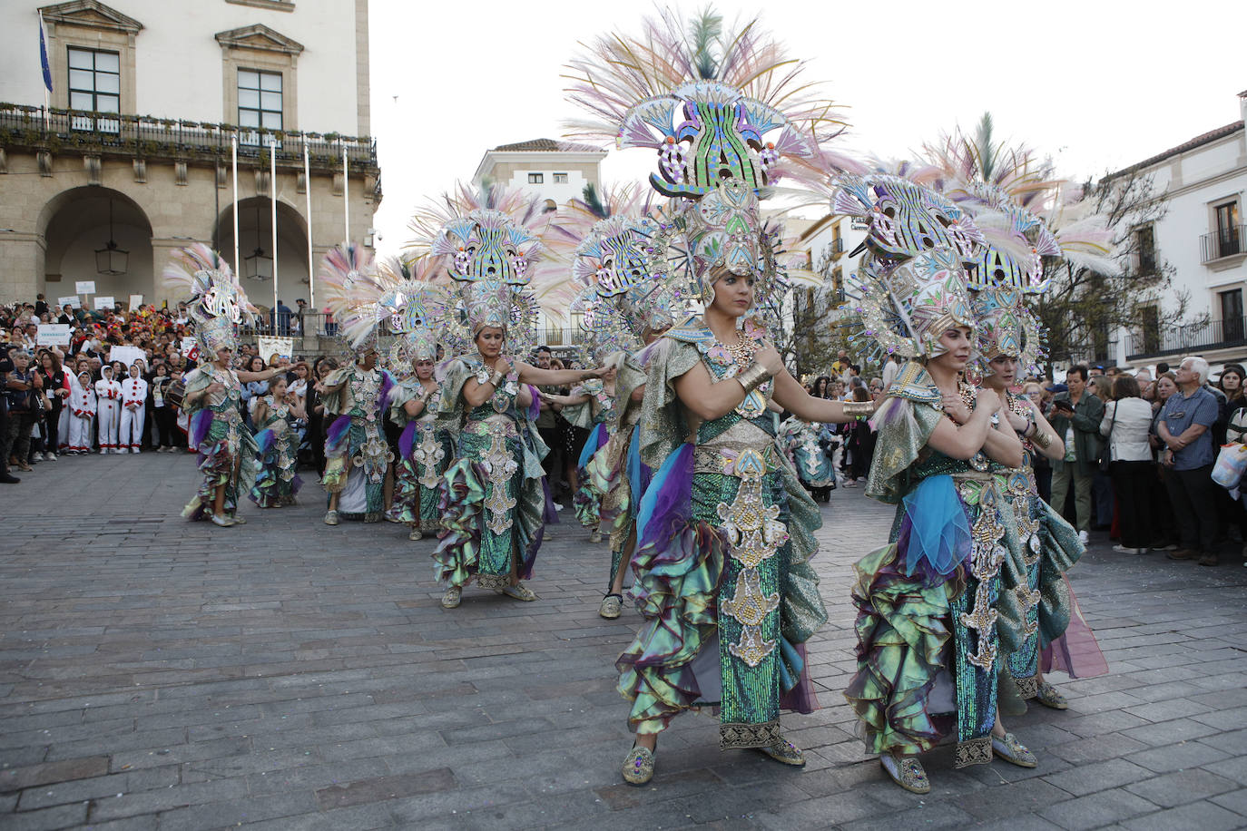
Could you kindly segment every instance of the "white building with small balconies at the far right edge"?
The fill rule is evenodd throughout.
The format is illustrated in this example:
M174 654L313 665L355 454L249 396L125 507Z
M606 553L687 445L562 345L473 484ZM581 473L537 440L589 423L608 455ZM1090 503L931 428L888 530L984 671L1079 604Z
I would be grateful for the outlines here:
M1172 287L1140 298L1137 324L1119 333L1119 364L1176 364L1187 354L1212 363L1247 358L1247 91L1238 93L1238 107L1237 121L1115 174L1151 176L1166 202L1161 219L1134 229L1135 268L1165 260L1176 269ZM1185 321L1160 325L1162 310L1177 309L1178 293L1188 298Z

